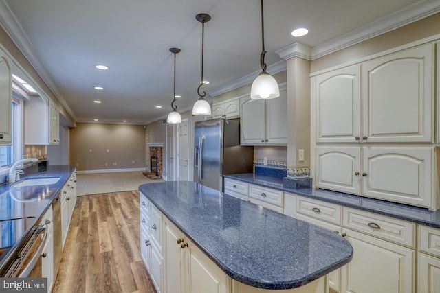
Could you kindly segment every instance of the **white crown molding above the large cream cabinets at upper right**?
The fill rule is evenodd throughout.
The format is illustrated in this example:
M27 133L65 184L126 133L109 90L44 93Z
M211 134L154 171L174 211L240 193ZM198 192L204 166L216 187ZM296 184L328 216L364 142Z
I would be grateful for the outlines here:
M342 34L328 42L316 45L311 49L311 60L329 55L341 49L361 43L375 36L391 32L399 27L414 23L440 12L440 1L417 2L402 10L388 14L382 19L373 21L347 34Z

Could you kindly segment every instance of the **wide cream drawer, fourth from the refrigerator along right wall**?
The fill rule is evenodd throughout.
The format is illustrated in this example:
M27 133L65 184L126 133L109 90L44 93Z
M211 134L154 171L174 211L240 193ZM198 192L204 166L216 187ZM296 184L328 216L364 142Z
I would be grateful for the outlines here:
M415 224L357 209L343 208L342 226L415 247Z

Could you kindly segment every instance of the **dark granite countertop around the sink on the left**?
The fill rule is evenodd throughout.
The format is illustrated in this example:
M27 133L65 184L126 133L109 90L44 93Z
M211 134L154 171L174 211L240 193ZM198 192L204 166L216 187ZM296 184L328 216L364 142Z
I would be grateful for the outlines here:
M16 239L15 245L0 255L0 270L5 266L12 251L21 245L21 240L25 238L30 228L39 222L75 169L74 165L49 165L47 172L39 172L38 164L34 164L25 167L25 174L21 175L21 180L41 177L59 177L60 180L52 185L28 187L14 187L13 184L8 183L0 185L0 220L34 217L28 230L23 232L20 239ZM1 233L8 234L8 231Z

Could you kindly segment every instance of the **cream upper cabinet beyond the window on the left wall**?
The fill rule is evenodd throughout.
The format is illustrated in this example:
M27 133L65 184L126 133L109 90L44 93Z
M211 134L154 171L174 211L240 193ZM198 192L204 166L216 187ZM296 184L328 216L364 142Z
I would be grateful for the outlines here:
M57 145L59 140L59 111L52 101L31 97L25 102L25 144Z

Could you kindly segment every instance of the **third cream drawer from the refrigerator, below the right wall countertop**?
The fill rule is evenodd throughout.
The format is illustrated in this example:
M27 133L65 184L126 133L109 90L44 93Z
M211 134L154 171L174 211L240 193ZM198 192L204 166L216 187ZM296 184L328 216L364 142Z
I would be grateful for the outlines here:
M338 204L312 200L298 196L296 199L296 213L302 213L309 217L331 222L336 225L341 224L341 207Z

